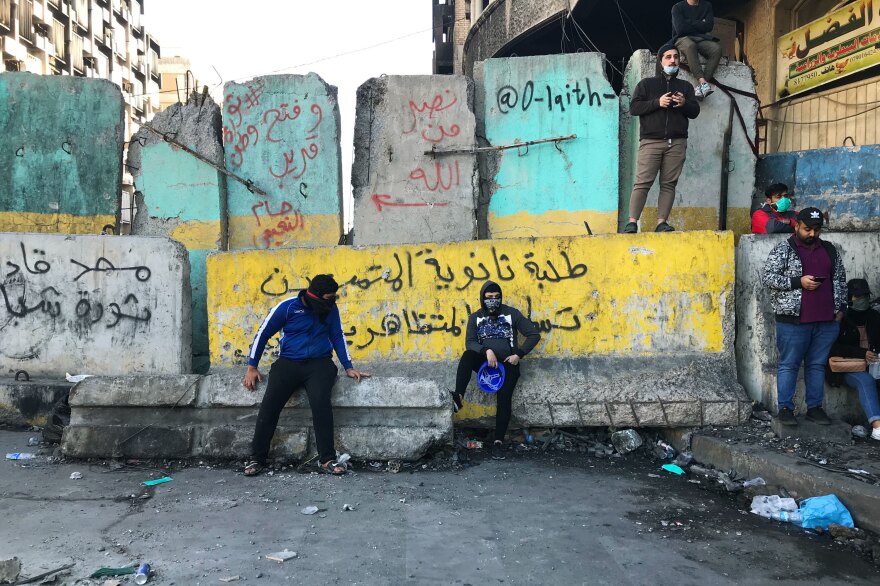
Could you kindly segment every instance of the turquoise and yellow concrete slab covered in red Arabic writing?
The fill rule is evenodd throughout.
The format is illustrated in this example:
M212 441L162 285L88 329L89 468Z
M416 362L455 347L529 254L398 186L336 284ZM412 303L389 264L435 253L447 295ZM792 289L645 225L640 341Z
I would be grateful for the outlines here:
M226 169L266 192L229 182L229 247L337 244L342 235L339 103L314 73L228 83Z

